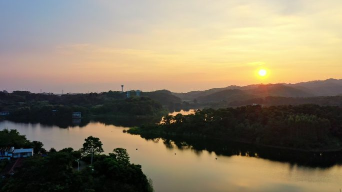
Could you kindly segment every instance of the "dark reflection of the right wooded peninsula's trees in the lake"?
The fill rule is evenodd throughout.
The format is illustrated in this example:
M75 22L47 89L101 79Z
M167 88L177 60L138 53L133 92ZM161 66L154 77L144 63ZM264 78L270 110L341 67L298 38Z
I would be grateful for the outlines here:
M178 136L155 138L155 136L151 135L143 135L141 137L154 142L159 142L161 140L168 149L192 150L196 154L199 154L202 151L208 151L210 153L214 152L217 155L228 157L255 157L305 167L328 168L337 164L342 164L342 152L340 151L314 153L203 138L194 139Z

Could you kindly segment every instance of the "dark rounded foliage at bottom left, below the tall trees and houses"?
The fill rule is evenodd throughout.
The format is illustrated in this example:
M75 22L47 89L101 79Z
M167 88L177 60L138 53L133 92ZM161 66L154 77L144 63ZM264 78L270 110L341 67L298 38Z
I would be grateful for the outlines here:
M80 172L72 169L75 157L68 152L32 157L13 176L5 179L1 192L152 192L141 167L123 164L104 155Z

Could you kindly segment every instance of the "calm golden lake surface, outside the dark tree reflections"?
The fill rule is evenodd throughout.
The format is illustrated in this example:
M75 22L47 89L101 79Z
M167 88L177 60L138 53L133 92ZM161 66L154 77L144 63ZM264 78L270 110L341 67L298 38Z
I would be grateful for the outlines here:
M43 142L47 150L79 149L90 135L100 138L105 153L125 148L130 161L142 165L153 180L156 192L339 192L342 188L338 165L307 168L255 157L219 156L191 147L179 149L172 144L166 148L162 140L147 141L122 133L127 128L97 122L61 129L3 121L3 128L17 129L29 140Z

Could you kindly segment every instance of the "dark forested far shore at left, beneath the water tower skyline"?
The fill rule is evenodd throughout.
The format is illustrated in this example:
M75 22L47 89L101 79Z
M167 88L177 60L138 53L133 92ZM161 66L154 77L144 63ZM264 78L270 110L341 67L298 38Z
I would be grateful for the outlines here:
M75 111L81 112L85 119L107 116L161 117L167 114L158 101L149 97L125 98L124 93L112 91L60 96L28 91L0 92L0 111L9 112L5 117L8 120L41 123L71 121L72 112Z

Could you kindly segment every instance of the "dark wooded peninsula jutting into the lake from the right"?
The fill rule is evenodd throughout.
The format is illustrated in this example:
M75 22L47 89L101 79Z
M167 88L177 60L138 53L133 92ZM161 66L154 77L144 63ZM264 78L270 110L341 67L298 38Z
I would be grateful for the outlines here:
M243 106L197 110L166 116L160 125L145 125L133 134L189 135L295 149L336 149L342 139L342 109L305 104Z

